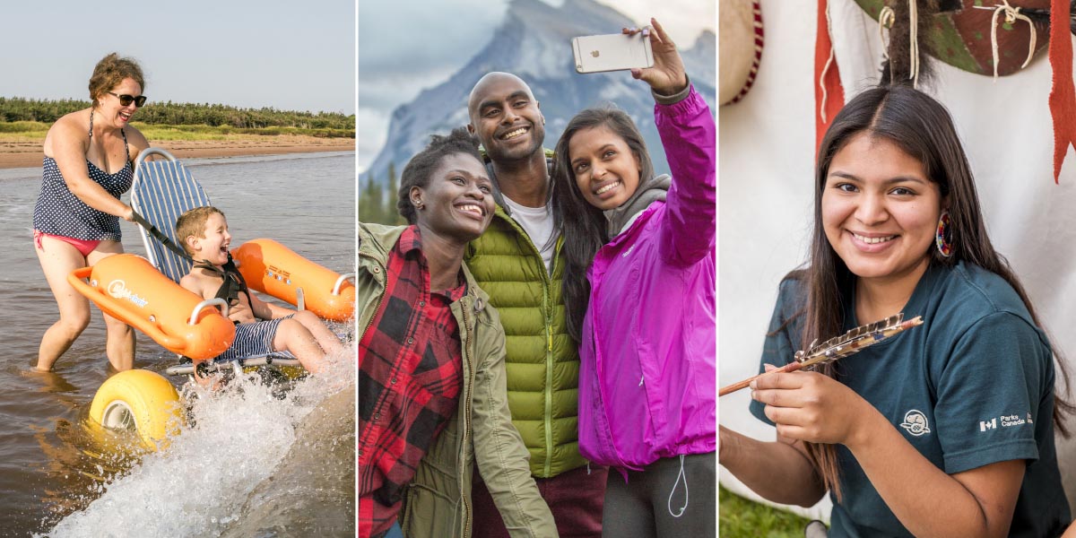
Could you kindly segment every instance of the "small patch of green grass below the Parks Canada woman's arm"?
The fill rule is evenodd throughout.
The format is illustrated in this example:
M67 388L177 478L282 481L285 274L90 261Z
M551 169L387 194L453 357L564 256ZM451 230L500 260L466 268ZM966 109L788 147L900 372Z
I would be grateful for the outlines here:
M721 538L803 538L810 520L748 500L718 485Z

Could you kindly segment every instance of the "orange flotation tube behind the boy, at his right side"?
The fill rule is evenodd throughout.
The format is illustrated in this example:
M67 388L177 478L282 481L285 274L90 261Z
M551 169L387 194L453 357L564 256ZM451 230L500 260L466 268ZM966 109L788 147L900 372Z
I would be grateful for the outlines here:
M355 284L271 239L255 239L231 251L246 285L293 306L302 288L306 309L320 317L346 322L355 315ZM354 277L354 275L352 275Z

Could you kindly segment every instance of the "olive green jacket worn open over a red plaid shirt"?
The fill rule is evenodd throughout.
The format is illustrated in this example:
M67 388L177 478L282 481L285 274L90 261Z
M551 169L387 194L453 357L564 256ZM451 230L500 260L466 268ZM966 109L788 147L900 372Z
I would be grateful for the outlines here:
M369 329L384 296L388 251L404 229L358 225L356 305L363 334ZM471 468L477 463L512 537L555 537L553 515L527 472L527 452L508 412L505 334L497 311L486 306L489 296L466 265L463 269L467 295L452 303L463 343L459 408L408 485L400 518L404 535L470 537Z

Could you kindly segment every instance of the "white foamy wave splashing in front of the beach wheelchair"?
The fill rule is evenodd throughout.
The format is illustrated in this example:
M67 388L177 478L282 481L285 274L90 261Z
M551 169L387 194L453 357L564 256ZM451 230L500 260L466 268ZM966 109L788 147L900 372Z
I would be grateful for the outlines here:
M354 344L342 355L283 398L254 376L194 390L171 447L87 492L99 497L48 536L353 536Z

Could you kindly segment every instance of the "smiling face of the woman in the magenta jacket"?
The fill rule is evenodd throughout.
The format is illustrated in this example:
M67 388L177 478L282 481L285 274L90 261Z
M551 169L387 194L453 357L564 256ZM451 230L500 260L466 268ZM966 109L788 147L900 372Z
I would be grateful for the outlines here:
M604 125L580 129L571 137L568 161L583 199L603 211L620 207L639 187L638 156Z

